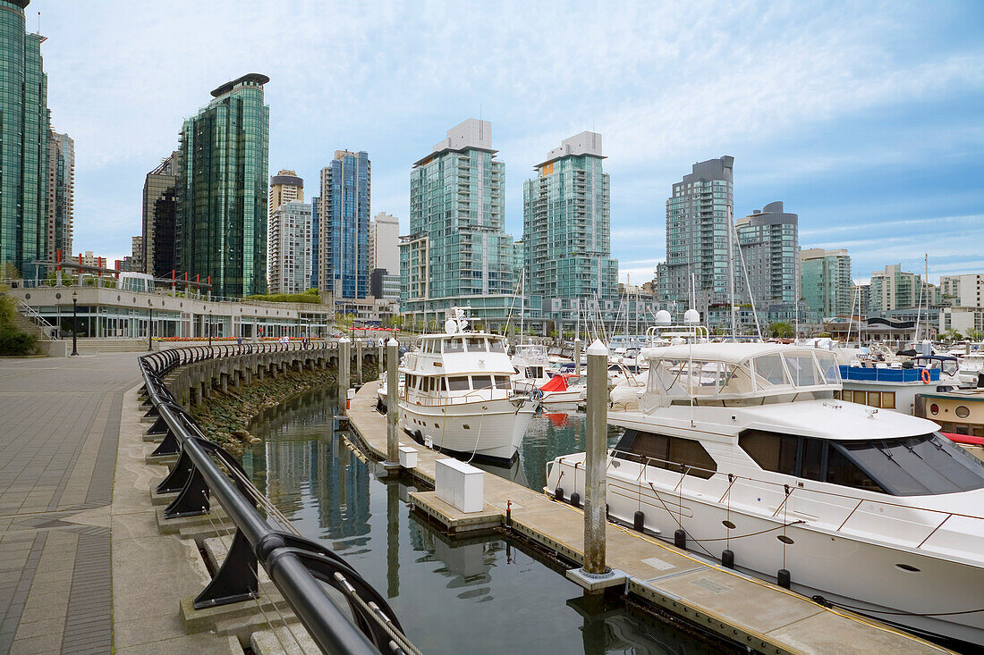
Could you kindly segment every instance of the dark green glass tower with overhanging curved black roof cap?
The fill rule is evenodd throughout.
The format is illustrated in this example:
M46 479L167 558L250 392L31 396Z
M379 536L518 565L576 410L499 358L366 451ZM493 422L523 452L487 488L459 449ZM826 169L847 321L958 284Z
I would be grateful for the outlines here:
M214 295L267 289L268 82L251 73L222 85L181 129L177 267L211 277Z

